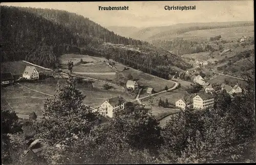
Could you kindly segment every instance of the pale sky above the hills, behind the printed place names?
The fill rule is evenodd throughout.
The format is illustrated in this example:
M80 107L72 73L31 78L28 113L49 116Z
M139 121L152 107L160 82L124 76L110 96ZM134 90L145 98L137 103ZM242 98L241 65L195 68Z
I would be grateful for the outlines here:
M88 17L103 27L144 28L189 22L254 20L253 1L30 2L1 5L66 10ZM100 11L99 6L129 6L129 10ZM196 10L165 10L165 6L196 6Z

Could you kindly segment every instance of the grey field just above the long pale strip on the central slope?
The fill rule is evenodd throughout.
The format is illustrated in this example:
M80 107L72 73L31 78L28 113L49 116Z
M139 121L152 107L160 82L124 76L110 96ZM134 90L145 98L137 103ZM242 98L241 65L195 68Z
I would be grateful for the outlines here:
M75 65L73 67L73 72L89 72L89 73L105 73L105 72L115 72L108 64L99 63L90 66Z

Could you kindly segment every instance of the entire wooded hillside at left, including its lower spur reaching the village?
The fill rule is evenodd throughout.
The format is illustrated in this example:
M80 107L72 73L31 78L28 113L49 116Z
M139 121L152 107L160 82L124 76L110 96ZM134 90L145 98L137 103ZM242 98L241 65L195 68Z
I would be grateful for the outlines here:
M168 51L116 35L67 11L1 6L1 20L2 61L27 60L54 68L62 54L87 54L112 58L162 78L175 72L172 65L191 67Z

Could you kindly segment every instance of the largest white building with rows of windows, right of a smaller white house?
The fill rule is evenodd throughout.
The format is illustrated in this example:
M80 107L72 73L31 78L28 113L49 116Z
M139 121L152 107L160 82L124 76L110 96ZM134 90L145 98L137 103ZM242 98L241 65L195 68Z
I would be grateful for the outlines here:
M193 98L194 108L204 109L212 106L214 106L214 95L210 93L197 94L197 96Z

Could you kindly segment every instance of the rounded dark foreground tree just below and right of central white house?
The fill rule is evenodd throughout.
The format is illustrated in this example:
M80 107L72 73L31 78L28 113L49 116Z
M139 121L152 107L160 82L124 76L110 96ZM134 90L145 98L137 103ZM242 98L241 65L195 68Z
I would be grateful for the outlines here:
M113 129L120 132L124 142L139 150L150 149L151 151L155 151L162 143L161 129L158 124L151 112L147 112L140 106L116 111L111 121Z

